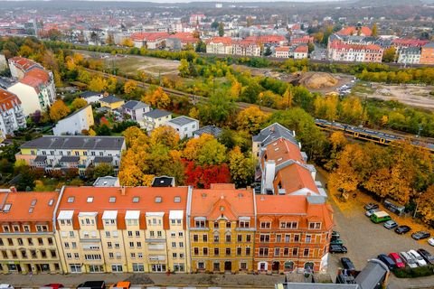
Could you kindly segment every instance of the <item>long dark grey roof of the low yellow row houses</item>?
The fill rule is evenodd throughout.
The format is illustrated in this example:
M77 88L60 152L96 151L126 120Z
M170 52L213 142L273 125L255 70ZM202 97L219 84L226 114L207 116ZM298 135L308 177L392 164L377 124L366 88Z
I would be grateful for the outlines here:
M21 148L38 149L87 149L120 150L125 143L123 136L89 136L89 135L43 135L22 144Z

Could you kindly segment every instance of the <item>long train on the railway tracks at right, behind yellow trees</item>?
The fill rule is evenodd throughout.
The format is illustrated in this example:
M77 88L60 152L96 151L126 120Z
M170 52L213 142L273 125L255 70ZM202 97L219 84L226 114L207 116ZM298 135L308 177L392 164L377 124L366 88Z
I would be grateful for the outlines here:
M316 126L326 131L342 131L344 135L351 136L356 139L361 139L368 142L373 142L382 145L393 145L396 142L404 141L407 138L402 135L392 135L384 133L382 131L365 128L362 126L350 126L347 124L337 123L334 121L328 121L325 119L316 118ZM410 140L412 145L429 150L431 154L434 154L434 144L422 140Z

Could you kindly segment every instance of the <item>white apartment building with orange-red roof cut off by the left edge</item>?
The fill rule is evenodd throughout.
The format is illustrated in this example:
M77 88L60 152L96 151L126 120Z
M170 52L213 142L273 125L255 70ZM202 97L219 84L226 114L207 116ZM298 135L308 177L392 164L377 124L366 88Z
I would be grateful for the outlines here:
M26 127L21 101L13 93L0 89L0 139L14 135L14 131Z

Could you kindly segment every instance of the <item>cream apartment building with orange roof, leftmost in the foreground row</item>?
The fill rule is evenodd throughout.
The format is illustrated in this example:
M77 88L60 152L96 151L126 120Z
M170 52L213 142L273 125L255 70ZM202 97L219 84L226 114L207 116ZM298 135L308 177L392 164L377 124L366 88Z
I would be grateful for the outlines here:
M62 273L53 216L56 191L0 191L0 272Z

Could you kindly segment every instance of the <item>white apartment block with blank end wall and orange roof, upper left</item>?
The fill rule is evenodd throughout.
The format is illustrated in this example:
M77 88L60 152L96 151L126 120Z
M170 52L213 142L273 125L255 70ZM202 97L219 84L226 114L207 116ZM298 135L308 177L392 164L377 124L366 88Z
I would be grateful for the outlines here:
M51 71L23 57L10 59L9 67L17 82L7 90L21 100L25 116L52 105L56 99L56 89Z

